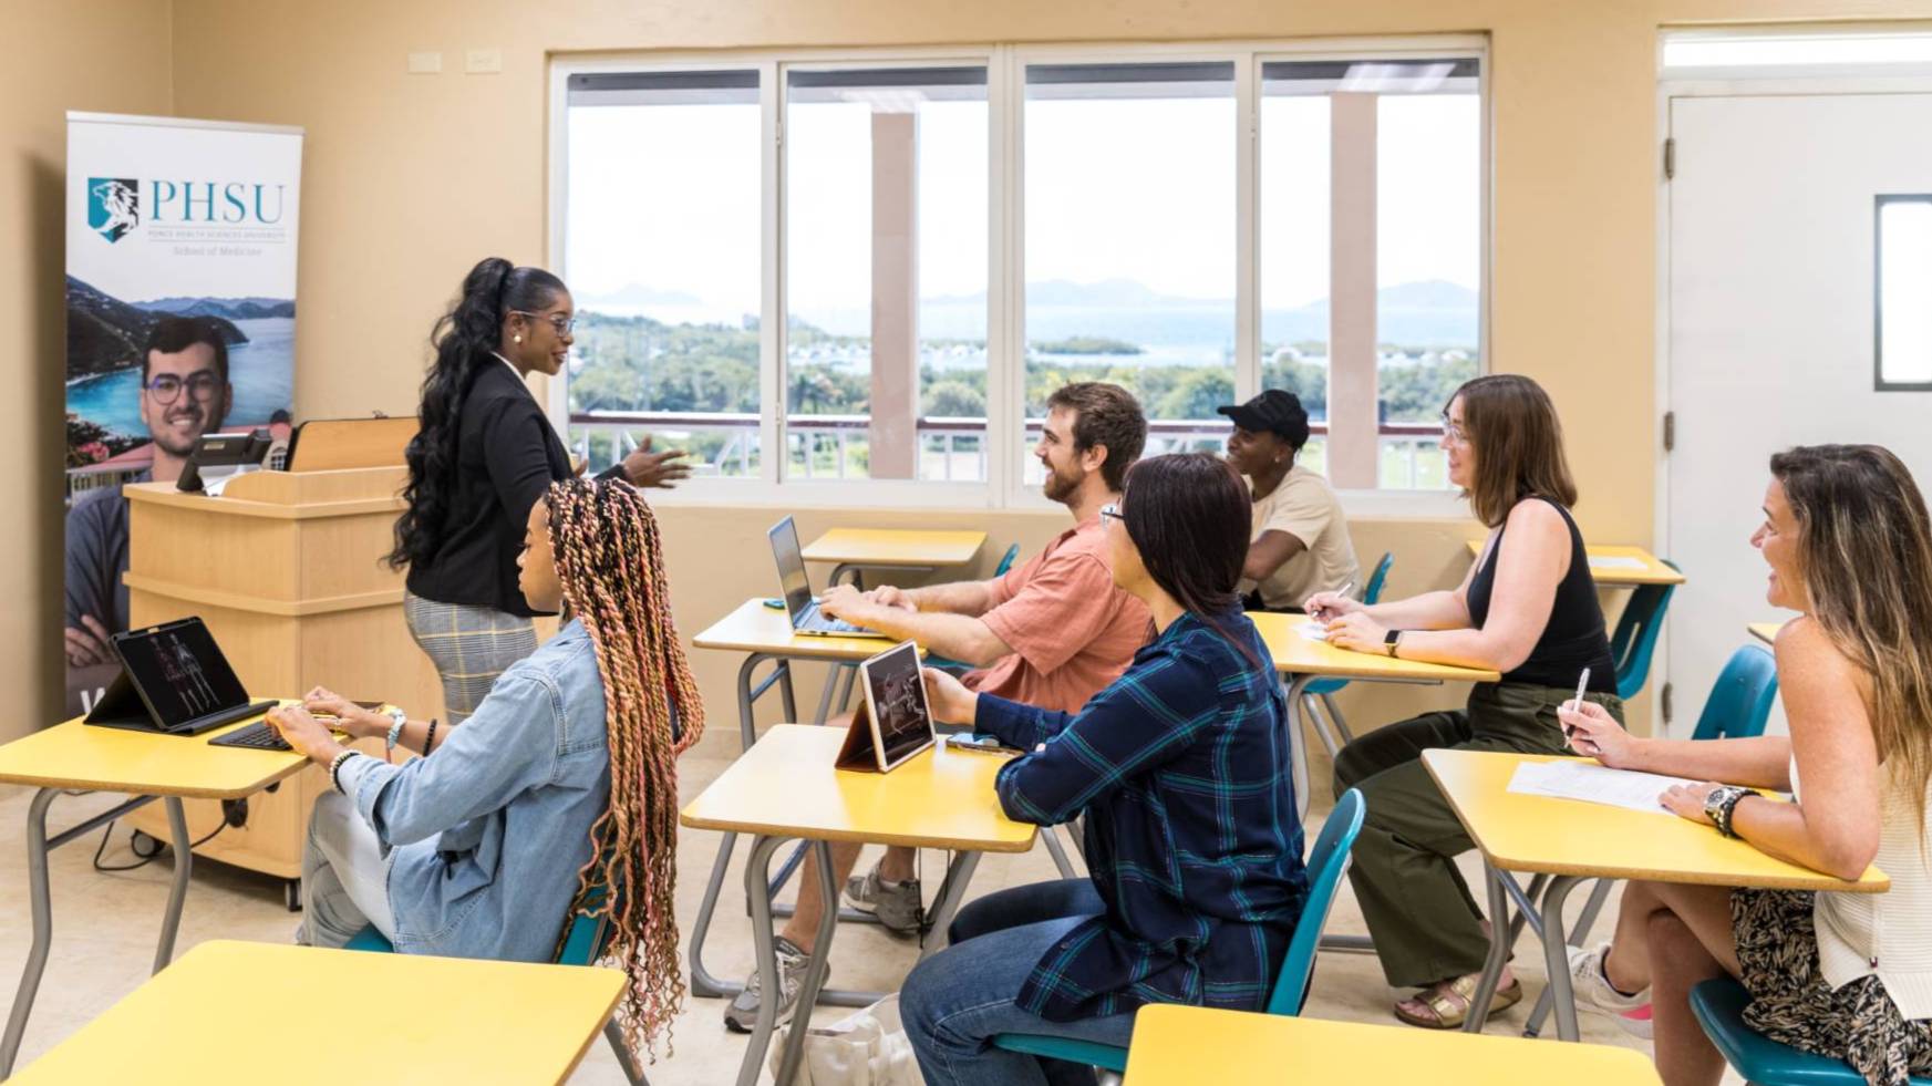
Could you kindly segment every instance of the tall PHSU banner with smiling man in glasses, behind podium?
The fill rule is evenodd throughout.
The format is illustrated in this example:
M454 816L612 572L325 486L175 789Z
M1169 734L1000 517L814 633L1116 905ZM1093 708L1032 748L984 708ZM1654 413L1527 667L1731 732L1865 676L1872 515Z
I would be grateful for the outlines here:
M122 485L174 481L207 433L286 437L301 129L68 114L68 709L128 628Z

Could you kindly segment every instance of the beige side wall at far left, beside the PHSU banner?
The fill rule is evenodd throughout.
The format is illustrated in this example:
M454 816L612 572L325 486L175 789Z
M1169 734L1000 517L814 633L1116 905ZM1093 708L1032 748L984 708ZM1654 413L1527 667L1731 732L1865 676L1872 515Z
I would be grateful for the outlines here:
M0 357L17 365L0 398L0 508L14 510L0 564L0 740L60 711L60 464L68 365L66 110L172 110L166 0L8 4L14 44L0 66Z

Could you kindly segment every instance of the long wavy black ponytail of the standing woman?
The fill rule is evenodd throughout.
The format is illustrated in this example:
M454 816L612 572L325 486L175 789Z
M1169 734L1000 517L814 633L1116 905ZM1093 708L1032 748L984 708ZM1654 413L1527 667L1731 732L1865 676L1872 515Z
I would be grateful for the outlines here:
M442 543L456 491L460 412L475 375L485 365L502 365L493 352L502 342L504 317L512 309L543 311L562 292L564 280L543 269L520 269L502 257L487 257L469 269L456 303L429 330L437 359L423 377L419 427L404 454L410 483L402 489L402 500L408 504L396 518L390 568L427 562Z

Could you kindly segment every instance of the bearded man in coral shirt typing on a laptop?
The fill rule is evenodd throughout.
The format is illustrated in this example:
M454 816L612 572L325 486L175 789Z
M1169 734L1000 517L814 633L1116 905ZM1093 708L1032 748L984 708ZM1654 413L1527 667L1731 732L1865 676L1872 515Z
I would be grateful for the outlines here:
M867 593L838 586L825 593L819 611L974 665L978 671L964 678L974 690L1076 713L1126 671L1151 626L1146 605L1115 587L1099 524L1099 508L1121 500L1121 483L1146 439L1148 419L1124 388L1097 381L1061 388L1047 398L1045 431L1034 454L1047 470L1045 495L1074 514L1074 528L1001 578L914 589L885 586ZM850 877L860 848L833 844L833 873L850 879L846 902L875 914L889 931L918 933L914 850L887 848L869 873ZM790 1018L811 960L825 908L817 885L815 860L808 856L798 910L777 939L781 1022ZM759 999L753 970L724 1009L724 1024L752 1032Z

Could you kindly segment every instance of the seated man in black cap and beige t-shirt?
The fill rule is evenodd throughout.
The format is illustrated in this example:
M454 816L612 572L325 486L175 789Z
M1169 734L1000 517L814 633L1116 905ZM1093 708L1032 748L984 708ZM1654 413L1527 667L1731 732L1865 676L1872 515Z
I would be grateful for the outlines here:
M1235 421L1227 460L1254 495L1248 562L1240 570L1248 609L1300 611L1318 591L1354 586L1360 568L1341 500L1327 479L1294 462L1308 443L1300 398L1269 388L1217 410Z

